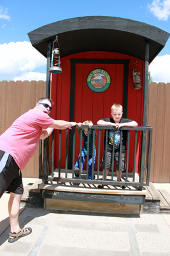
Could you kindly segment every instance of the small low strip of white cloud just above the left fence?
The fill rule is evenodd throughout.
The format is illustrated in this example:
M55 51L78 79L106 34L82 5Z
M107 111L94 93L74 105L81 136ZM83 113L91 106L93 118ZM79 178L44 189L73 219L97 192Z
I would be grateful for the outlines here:
M26 72L22 76L14 77L13 81L46 81L46 74L38 72Z

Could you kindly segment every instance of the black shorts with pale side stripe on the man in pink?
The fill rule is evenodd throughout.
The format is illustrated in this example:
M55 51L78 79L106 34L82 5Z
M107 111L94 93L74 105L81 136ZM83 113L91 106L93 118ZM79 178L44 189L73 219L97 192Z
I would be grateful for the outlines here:
M0 198L5 191L22 195L22 174L13 157L0 150Z

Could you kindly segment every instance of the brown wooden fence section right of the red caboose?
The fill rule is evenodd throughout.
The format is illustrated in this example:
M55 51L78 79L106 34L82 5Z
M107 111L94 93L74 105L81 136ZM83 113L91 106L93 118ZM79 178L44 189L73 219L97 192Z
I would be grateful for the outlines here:
M147 124L153 127L150 181L170 182L170 83L148 86Z

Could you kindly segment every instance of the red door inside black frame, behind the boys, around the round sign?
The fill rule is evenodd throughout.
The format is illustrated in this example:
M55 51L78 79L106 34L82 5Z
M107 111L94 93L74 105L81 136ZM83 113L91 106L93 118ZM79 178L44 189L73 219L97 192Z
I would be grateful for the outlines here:
M92 70L103 69L110 75L111 83L104 92L93 92L88 84L87 77ZM114 103L123 105L124 92L124 65L123 64L79 64L75 65L74 87L74 121L84 122L92 120L96 125L101 118L111 117L111 106ZM101 132L101 157L104 151L104 131ZM76 131L75 159L80 152L80 135ZM98 148L98 134L96 150ZM98 152L98 151L97 151ZM97 155L96 155L97 156ZM97 161L96 161L97 163ZM84 169L86 166L84 166ZM97 168L97 166L96 166Z

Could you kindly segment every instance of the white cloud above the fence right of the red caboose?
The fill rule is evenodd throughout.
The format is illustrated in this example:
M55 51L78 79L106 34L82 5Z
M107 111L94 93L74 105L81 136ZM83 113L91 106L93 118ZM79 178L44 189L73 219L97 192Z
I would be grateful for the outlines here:
M155 83L170 83L170 55L157 56L149 65L152 80Z

